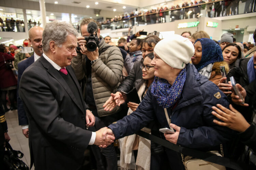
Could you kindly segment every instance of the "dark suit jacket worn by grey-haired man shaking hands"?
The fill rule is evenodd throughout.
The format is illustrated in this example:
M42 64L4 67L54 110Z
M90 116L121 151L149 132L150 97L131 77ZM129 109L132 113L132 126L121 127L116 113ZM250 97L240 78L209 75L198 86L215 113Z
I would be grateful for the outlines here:
M86 129L81 87L71 66L68 74L79 89L74 96L66 81L43 56L20 79L19 96L29 123L31 166L35 169L77 169L91 138ZM78 104L79 100L83 105Z

